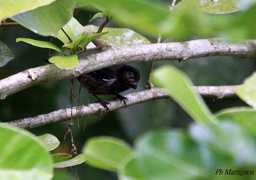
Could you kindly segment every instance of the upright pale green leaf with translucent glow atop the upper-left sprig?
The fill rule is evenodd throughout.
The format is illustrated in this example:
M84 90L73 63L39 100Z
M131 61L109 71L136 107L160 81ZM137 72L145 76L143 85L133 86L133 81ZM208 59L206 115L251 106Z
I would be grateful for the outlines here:
M67 24L65 24L62 27L62 29L66 32L68 37L73 42L76 41L84 32L84 27L73 17L70 19L70 21Z

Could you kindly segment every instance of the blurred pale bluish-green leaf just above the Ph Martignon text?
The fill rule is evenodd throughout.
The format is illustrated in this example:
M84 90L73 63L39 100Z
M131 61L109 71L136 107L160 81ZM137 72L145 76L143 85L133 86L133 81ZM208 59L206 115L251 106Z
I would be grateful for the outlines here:
M220 121L217 125L208 126L193 124L190 127L190 134L211 151L232 157L236 166L256 164L254 137L234 122Z

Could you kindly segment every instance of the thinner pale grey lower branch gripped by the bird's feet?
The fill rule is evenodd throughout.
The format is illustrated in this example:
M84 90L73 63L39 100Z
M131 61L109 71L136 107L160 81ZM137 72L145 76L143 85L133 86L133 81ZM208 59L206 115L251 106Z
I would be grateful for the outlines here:
M236 97L235 90L238 86L196 86L195 90L198 91L205 98L233 98ZM133 93L126 95L129 99L126 102L127 106L132 106L135 104L140 104L147 101L152 101L156 99L167 99L169 98L168 93L163 88L152 88L138 93ZM108 105L110 111L124 108L125 105L120 102L120 100L114 98L110 101L111 105ZM77 110L79 109L79 110ZM68 121L70 119L80 118L83 116L100 116L106 114L108 111L104 109L100 103L94 103L90 105L82 105L80 107L73 107L72 109L61 109L53 111L48 114L43 114L35 117L29 117L25 119L20 119L16 121L10 121L4 124L9 124L17 126L20 128L35 128L39 126L44 126L46 124L53 124L63 121Z

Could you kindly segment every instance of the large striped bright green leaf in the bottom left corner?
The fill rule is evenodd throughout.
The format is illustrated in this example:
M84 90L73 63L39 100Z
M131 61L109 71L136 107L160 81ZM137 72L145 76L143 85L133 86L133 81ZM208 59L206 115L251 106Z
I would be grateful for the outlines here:
M1 179L52 179L52 159L35 136L23 129L0 125Z

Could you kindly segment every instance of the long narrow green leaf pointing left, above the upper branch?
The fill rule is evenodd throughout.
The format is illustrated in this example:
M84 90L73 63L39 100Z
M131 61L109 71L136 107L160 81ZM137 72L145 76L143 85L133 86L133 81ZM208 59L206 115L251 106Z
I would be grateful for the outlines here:
M61 49L58 48L55 44L52 44L51 42L37 41L37 40L34 40L34 39L28 39L28 38L17 38L16 39L16 42L20 42L20 41L26 42L28 44L31 44L33 46L37 46L37 47L40 47L40 48L50 48L50 49L53 49L53 50L58 51L61 54L63 54Z

